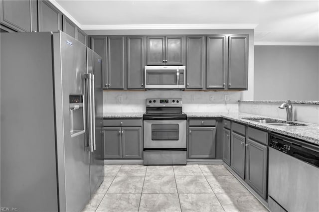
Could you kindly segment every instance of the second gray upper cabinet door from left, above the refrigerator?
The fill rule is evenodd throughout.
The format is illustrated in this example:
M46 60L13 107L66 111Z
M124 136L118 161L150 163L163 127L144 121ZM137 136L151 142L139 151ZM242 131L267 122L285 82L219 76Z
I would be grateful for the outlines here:
M56 32L62 30L62 12L47 0L38 1L39 31Z

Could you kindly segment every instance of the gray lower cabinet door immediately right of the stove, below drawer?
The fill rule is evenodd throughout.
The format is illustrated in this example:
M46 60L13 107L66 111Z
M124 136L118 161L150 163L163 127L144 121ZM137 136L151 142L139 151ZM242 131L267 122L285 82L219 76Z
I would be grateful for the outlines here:
M188 158L215 158L216 127L189 127Z

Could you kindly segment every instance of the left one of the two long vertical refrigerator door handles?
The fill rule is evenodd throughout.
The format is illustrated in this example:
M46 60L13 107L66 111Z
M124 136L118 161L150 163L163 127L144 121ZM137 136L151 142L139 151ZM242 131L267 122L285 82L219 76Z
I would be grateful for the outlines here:
M88 105L88 147L90 148L89 151L93 152L93 124L92 124L92 74L83 74L83 78L86 79L87 82L87 105Z

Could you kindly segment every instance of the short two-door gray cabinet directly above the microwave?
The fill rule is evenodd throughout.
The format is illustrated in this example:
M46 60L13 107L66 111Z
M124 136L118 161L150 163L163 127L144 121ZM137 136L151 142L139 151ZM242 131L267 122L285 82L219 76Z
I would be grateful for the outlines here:
M183 65L183 36L148 36L148 65Z

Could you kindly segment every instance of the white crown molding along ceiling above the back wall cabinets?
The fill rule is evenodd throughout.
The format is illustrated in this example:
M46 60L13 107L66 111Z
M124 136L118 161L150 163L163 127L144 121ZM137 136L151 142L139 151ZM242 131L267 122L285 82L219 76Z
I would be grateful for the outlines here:
M258 24L118 24L81 25L83 30L127 29L255 29Z

